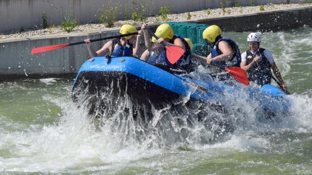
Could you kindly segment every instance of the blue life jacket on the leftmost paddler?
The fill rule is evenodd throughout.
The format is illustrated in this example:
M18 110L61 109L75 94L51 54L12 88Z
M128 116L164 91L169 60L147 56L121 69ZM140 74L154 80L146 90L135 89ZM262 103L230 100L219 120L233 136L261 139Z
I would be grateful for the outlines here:
M133 56L133 45L127 41L127 44L122 46L119 40L113 40L110 57L119 56Z

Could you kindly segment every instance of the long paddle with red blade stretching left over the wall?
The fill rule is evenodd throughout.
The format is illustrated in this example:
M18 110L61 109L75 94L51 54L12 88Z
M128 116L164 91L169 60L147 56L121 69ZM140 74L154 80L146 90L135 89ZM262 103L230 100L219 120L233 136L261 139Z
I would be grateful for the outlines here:
M91 42L101 41L101 40L105 40L105 39L119 38L119 37L136 35L136 34L138 34L138 32L123 34L123 35L116 35L116 36L109 36L109 37L99 38L99 39L90 39L90 41ZM42 47L35 47L31 50L31 54L42 53L42 52L55 50L55 49L62 48L62 47L68 47L71 45L77 45L77 44L83 44L83 43L85 43L85 41L74 42L74 43L70 43L70 44L48 45L48 46L42 46Z

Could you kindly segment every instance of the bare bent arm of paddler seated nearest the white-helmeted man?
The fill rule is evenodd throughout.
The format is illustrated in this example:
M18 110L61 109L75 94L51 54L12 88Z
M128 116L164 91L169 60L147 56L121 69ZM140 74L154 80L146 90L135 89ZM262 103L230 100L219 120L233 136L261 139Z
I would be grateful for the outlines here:
M216 61L229 61L233 57L234 51L232 50L231 46L225 42L221 41L219 42L219 49L222 52L222 54L214 57L211 59L211 53L207 56L207 63L211 64L211 62L216 62Z

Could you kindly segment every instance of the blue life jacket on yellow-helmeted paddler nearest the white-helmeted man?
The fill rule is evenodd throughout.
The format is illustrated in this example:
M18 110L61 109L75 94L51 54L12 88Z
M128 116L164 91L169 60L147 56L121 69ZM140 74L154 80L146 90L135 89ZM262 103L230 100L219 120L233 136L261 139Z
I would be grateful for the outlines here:
M214 57L222 54L222 52L219 49L219 42L220 41L225 41L227 42L233 49L233 57L229 61L218 61L218 62L213 62L214 64L221 66L221 67L240 67L240 64L242 62L242 57L241 57L241 52L239 46L236 44L235 41L231 40L230 38L220 38L215 45L212 48L211 51L211 58L213 59Z

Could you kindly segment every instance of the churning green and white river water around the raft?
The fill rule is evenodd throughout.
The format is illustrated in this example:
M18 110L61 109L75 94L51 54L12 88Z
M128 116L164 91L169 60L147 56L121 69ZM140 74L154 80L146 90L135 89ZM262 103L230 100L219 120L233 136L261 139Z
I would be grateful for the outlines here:
M247 35L224 33L241 50ZM207 141L212 133L173 120L189 116L168 108L153 110L147 124L125 115L127 102L115 118L94 119L71 101L73 79L0 82L0 173L312 174L311 38L307 26L262 33L292 93L288 115L257 120L256 104L227 98L245 114L211 111L232 115L235 130Z

